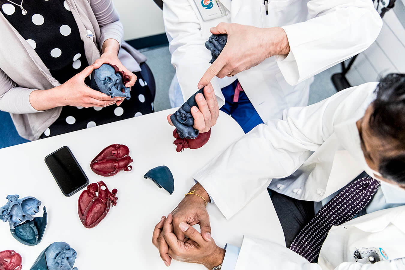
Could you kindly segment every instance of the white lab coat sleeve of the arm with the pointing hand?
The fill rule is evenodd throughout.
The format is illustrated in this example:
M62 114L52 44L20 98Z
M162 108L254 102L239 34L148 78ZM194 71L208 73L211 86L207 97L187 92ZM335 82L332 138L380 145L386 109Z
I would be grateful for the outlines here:
M282 27L290 53L276 60L290 85L364 51L382 28L371 0L310 0L307 8L311 19Z

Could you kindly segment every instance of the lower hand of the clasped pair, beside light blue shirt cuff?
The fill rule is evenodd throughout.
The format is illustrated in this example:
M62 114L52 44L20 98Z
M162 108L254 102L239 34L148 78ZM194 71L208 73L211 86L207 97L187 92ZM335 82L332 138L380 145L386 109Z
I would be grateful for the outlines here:
M162 217L162 220L156 225L153 235L158 235L153 238L153 244L159 247L160 243L165 243L165 250L168 256L177 261L184 261L196 264L203 264L209 270L222 264L225 257L225 250L218 247L214 240L207 241L203 239L201 234L192 226L182 222L179 224L179 229L185 234L184 240L177 239L173 233L173 216L168 215L167 219ZM156 239L156 240L155 240ZM166 266L170 266L170 261Z

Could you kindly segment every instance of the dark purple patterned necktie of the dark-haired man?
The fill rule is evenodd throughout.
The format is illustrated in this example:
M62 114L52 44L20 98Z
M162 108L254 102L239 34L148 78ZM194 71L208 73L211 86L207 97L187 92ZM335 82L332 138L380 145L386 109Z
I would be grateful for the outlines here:
M301 230L290 249L313 262L319 255L330 228L350 221L373 198L380 183L370 176L349 183Z

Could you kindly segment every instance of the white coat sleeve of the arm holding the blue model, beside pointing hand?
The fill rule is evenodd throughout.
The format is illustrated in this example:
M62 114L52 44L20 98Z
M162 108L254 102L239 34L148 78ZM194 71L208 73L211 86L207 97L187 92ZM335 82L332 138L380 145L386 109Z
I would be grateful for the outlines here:
M172 64L176 69L184 100L188 100L197 90L198 82L211 66L211 52L205 47L208 37L201 35L200 21L188 0L165 0L163 19L166 33L172 39L169 50ZM197 11L198 12L198 11ZM218 104L225 104L216 77L211 80Z

